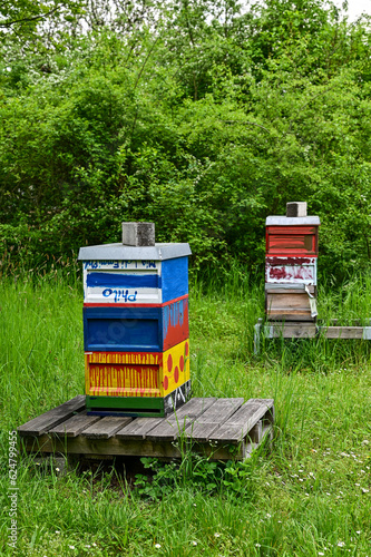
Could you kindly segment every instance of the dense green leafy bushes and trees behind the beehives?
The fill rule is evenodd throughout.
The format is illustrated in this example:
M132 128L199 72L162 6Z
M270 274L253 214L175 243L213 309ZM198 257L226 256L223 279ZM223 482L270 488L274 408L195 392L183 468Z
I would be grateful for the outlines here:
M48 71L25 55L21 76L0 71L4 245L41 264L150 219L158 240L191 242L194 264L254 268L265 217L306 199L322 268L369 265L367 25L320 0L296 16L285 0L245 14L224 0L144 2L144 22L120 6L121 31L114 18L50 49Z

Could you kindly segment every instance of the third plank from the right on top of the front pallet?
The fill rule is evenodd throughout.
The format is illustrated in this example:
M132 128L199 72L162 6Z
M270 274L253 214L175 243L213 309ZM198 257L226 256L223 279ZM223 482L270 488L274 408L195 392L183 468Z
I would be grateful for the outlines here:
M204 413L214 402L215 398L195 398L184 404L177 412L159 423L155 429L146 434L146 439L153 441L174 441L182 434L202 413Z

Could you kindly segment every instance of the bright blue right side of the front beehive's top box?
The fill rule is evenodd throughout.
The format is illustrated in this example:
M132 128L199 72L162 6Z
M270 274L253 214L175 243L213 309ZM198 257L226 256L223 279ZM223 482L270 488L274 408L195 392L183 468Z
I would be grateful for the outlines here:
M188 294L188 257L162 263L163 303Z

